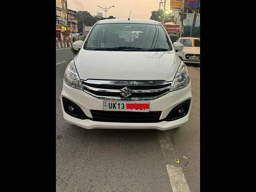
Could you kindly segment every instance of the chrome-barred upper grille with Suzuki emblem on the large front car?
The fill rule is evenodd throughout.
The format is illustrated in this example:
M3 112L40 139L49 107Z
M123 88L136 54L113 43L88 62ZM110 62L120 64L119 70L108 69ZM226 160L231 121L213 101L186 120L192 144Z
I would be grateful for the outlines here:
M154 100L170 90L171 82L81 80L86 93L102 100Z

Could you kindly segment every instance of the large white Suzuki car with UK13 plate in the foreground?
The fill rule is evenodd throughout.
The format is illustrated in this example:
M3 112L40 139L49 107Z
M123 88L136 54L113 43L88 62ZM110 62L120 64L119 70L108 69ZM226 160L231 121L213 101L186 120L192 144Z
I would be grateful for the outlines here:
M160 22L100 20L74 48L60 95L70 124L168 130L189 120L190 73L175 51L183 46Z

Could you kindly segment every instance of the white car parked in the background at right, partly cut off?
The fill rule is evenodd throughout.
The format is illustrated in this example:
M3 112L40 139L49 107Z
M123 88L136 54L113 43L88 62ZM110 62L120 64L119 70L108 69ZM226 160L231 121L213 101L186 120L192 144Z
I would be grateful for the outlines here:
M182 37L177 42L184 45L183 50L177 52L184 63L200 64L200 38Z

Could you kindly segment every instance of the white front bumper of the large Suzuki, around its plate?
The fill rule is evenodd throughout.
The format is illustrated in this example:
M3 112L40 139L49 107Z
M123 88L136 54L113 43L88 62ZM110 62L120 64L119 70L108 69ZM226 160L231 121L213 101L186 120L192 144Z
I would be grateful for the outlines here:
M192 105L192 93L191 83L181 90L170 92L155 100L150 100L150 111L162 111L160 120L166 118L169 112L178 104L185 100L191 99L190 108L186 116L173 120L170 122L162 121L157 123L120 123L120 122L97 122L93 120L82 120L67 114L63 108L62 97L66 97L72 102L76 103L84 112L86 116L92 118L90 110L103 110L103 100L95 98L82 90L74 89L68 86L63 81L62 92L60 95L60 101L62 105L62 112L64 119L70 124L86 128L103 128L103 129L157 129L157 130L168 130L182 126L189 120L189 114Z

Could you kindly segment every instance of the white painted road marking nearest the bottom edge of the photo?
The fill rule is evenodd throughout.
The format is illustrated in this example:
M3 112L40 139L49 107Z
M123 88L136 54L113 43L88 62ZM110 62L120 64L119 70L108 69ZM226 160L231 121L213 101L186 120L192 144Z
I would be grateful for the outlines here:
M172 192L190 192L181 167L166 165L167 172L172 185Z

